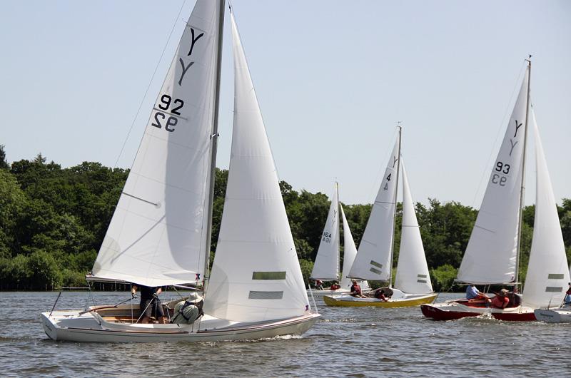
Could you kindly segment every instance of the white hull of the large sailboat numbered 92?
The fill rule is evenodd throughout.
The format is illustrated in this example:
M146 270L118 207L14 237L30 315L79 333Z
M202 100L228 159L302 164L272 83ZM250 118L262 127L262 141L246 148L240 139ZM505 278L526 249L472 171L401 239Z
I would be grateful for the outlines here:
M303 334L320 315L308 314L270 322L230 322L204 315L192 325L108 322L96 312L80 310L42 312L41 321L50 339L75 342L217 342L263 339Z

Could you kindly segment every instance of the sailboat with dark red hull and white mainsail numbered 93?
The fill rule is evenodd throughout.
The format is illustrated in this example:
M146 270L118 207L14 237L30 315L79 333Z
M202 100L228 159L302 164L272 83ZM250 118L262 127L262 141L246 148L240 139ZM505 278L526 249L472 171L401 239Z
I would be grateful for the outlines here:
M492 167L482 205L458 270L460 282L515 286L519 281L530 70L531 62L528 61L510 123ZM535 118L532 118L532 124L535 130L537 161L536 222L538 216L548 222L551 228L550 237L555 237L557 230L561 234L557 209L552 198L551 183ZM548 196L551 197L546 200ZM553 218L554 214L557 219ZM562 247L562 236L559 236L561 245L554 250L551 241L545 239L545 235L539 230L541 227L538 227L537 235L534 230L533 245L536 247L532 245L530 252L527 271L529 281L526 280L523 297L512 293L510 302L504 309L490 309L486 300L453 300L423 305L423 314L435 320L454 320L489 312L500 320L535 320L532 309L547 306L548 302L557 297L562 299L562 282L568 282L566 277L569 277L569 272L564 272L567 270L567 260L565 248ZM561 265L564 259L565 265Z

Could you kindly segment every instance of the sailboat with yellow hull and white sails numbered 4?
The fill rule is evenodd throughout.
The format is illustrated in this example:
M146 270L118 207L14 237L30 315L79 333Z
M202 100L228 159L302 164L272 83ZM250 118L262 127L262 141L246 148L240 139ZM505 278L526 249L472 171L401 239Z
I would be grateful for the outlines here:
M360 307L410 307L433 302L433 293L428 265L420 237L420 228L416 219L408 178L400 162L399 138L390 156L383 182L373 204L370 217L363 233L363 240L349 277L362 280L388 281L388 290L393 292L390 300L383 301L374 297L358 298L351 295L325 296L326 305ZM395 228L396 195L399 168L403 167L403 228L400 239L400 252L397 276L393 287L393 237Z

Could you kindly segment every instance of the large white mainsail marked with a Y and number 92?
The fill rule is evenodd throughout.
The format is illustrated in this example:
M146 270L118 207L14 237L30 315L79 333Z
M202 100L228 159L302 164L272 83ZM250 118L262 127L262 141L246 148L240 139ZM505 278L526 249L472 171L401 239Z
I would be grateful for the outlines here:
M151 111L93 274L195 282L206 250L218 1L198 0Z

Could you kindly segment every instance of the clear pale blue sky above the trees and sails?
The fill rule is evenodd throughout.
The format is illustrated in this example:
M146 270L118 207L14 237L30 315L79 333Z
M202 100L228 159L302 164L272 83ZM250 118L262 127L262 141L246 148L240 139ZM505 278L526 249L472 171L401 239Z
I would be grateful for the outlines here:
M3 1L0 144L69 167L128 168L194 1ZM415 200L480 207L533 54L532 100L555 197L571 198L571 1L233 1L278 173L370 203L403 122ZM226 17L226 22L229 19ZM228 24L227 24L228 26ZM225 36L229 37L228 27ZM225 40L218 166L230 155ZM532 144L530 145L532 151ZM535 202L529 155L526 203Z

